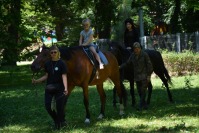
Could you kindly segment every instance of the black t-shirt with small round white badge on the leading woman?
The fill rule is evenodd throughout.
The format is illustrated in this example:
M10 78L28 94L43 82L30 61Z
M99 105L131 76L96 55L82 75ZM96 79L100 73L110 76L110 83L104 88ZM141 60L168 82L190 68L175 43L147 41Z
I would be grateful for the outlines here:
M66 74L67 68L62 60L48 61L44 69L48 73L47 84L59 83L63 85L62 74Z

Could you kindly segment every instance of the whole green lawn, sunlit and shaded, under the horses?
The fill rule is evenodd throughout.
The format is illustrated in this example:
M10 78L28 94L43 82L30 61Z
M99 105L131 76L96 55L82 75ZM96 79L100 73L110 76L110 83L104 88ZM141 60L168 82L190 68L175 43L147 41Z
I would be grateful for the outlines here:
M29 66L0 69L0 132L55 132L50 124L52 120L44 108L44 84L31 84ZM89 87L91 124L85 125L85 109L82 89L76 87L68 99L66 118L68 126L56 132L73 133L148 133L148 132L199 132L199 75L190 78L190 87L185 85L185 77L173 77L171 92L175 103L168 102L166 90L160 79L153 78L154 85L151 104L146 111L137 111L128 105L125 115L119 116L119 110L112 107L112 88L104 83L107 95L106 116L97 117L100 102L95 86ZM129 92L129 84L125 83ZM136 90L136 100L138 94ZM137 106L137 105L136 105ZM118 106L119 107L119 106Z

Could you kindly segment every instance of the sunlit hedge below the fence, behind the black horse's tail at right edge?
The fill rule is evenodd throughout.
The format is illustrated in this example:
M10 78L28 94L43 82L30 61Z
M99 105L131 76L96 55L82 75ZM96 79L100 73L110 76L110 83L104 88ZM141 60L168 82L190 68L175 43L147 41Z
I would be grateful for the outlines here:
M182 53L162 51L166 68L171 75L183 76L199 72L199 54L191 51Z

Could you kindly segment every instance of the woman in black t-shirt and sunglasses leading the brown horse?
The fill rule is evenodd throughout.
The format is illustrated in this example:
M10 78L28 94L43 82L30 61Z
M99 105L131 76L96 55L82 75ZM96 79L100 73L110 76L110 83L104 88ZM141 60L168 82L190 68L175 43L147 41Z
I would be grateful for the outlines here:
M53 92L45 90L45 107L55 123L55 128L60 129L60 127L65 125L64 106L67 100L66 95L68 94L67 68L65 63L59 59L60 53L56 46L50 48L50 55L51 60L46 62L44 66L46 74L37 80L32 79L32 83L47 80L46 85L57 84L59 86L59 89ZM56 101L56 109L54 110L51 108L53 98Z

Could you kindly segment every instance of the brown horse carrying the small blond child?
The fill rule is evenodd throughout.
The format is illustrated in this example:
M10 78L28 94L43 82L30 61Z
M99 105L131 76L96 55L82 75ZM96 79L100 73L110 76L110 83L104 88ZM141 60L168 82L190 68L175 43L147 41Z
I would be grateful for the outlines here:
M90 123L90 111L89 111L89 99L88 99L88 86L96 85L97 91L100 95L101 110L98 118L104 117L106 94L103 89L103 82L108 78L111 79L116 87L117 94L120 102L120 115L123 112L123 94L120 88L120 75L118 62L115 56L111 52L104 52L108 60L108 64L104 66L104 69L98 69L98 75L90 81L92 71L94 69L91 61L88 59L83 47L67 47L59 48L61 53L61 59L66 63L67 66L67 77L68 77L68 96L75 86L80 86L83 89L84 94L84 106L86 109L85 123ZM38 54L37 58L33 61L31 69L33 72L38 72L44 67L46 61L50 60L49 48L43 46L42 51ZM99 77L97 77L99 76ZM89 82L90 81L90 82Z

